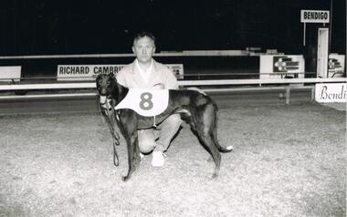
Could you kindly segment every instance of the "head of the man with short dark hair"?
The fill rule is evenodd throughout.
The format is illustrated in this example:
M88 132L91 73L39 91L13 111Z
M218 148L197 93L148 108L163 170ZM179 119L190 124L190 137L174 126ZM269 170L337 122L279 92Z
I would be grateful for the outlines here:
M148 63L155 52L155 45L151 38L144 36L136 41L132 46L132 52L141 63Z

